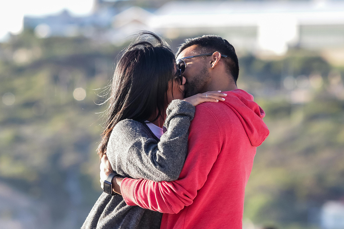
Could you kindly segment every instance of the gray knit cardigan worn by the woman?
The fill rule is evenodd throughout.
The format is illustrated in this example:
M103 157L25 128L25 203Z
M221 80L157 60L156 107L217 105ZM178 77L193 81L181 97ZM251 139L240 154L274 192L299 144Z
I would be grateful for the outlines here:
M112 130L106 154L122 177L173 181L178 179L187 153L187 138L195 107L173 100L167 108L166 132L160 141L152 131L131 119ZM122 196L103 193L88 214L82 229L159 229L162 213L128 206Z

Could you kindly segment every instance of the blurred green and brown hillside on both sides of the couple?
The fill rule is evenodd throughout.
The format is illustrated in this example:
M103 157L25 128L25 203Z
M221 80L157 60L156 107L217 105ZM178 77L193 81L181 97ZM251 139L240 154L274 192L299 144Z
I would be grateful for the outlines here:
M124 46L29 30L0 44L1 225L81 227L102 192L96 148L106 105L97 94ZM300 49L243 55L239 64L238 87L255 96L270 129L247 185L245 222L319 228L323 204L344 197L344 69Z

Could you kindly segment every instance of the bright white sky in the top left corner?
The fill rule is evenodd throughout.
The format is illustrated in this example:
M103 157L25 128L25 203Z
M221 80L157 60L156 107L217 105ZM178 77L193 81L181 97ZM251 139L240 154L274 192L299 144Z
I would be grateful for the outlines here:
M44 16L67 9L72 15L91 12L94 0L0 0L0 42L6 40L8 32L22 31L24 15Z

